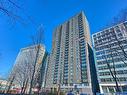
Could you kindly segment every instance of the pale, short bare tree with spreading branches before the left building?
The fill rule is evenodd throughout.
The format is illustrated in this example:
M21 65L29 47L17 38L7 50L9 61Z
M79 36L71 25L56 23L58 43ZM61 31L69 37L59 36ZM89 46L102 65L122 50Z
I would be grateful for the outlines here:
M31 52L32 51L22 53L19 57L17 57L16 64L14 65L13 70L10 74L10 77L15 75L15 79L13 82L21 88L21 95L23 95L26 89L28 89L29 80L31 79L31 73L33 71L32 59L34 57L32 56Z

